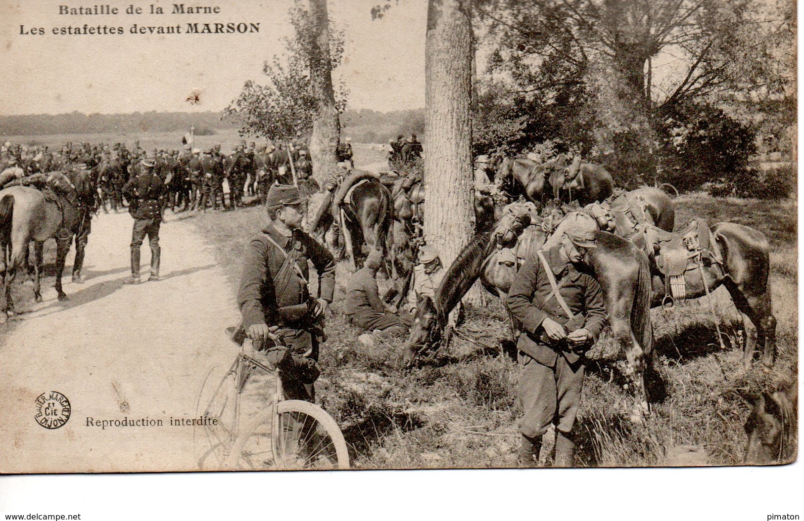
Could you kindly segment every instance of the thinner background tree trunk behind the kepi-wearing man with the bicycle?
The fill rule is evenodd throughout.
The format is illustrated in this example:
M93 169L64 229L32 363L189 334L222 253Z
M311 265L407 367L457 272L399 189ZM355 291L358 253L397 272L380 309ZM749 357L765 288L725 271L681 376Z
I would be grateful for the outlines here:
M338 165L336 149L340 140L341 125L335 94L332 88L332 61L330 59L330 26L326 14L326 0L310 0L310 26L314 31L310 49L310 83L318 100L310 136L310 159L313 177L323 186L334 176Z

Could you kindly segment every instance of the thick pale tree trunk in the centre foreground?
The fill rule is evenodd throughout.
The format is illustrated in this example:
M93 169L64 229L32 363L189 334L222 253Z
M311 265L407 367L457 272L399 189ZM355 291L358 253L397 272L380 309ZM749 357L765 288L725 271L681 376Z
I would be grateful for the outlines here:
M430 0L425 47L425 240L445 267L474 235L468 0Z

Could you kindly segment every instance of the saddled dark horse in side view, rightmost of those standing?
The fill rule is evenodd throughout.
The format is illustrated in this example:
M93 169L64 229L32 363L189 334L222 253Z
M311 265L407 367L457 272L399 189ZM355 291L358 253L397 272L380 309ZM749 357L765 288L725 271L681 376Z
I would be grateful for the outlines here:
M604 230L608 223L613 232L645 250L652 273L651 306L667 305L672 299L699 298L725 286L745 328L745 367L751 365L757 343L761 346L762 364L772 367L776 319L770 301L770 246L765 234L733 222L708 227L703 219L671 233L671 219L658 212L662 207L672 207L667 194L654 188L637 189L626 195L630 194L635 194L633 201L642 201L642 210L633 213L644 212L646 222L629 219L630 212L616 214L613 207L608 210L593 204L584 211L596 218ZM632 208L638 204L635 202Z

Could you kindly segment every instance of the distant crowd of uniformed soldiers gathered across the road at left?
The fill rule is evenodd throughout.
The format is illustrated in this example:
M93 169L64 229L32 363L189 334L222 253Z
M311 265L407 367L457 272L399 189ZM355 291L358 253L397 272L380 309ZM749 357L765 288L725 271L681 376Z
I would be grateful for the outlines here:
M348 144L351 152L351 144ZM47 146L11 144L6 141L0 153L0 188L7 182L35 173L55 170L90 169L98 174L101 208L105 212L125 207L123 187L142 169L143 161L154 162L154 172L166 185L166 207L172 211L207 208L234 210L243 206L244 196L259 195L265 201L274 182L293 184L295 176L305 193L318 189L312 177L313 165L306 144L246 144L242 140L231 153L221 152L219 144L182 149L142 149L135 141L132 149L125 143L67 143L58 150ZM228 197L224 190L228 185ZM127 200L126 200L127 201Z

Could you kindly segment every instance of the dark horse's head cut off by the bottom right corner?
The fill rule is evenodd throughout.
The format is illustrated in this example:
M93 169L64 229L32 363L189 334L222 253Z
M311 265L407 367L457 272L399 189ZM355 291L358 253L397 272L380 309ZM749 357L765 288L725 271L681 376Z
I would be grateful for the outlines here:
M773 465L795 461L797 432L798 386L762 393L745 421L745 433L749 437L745 463Z

